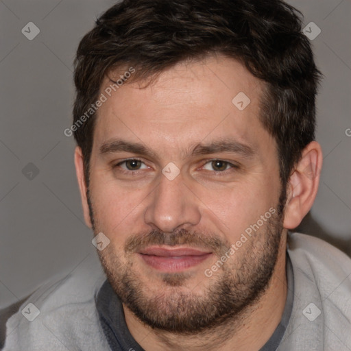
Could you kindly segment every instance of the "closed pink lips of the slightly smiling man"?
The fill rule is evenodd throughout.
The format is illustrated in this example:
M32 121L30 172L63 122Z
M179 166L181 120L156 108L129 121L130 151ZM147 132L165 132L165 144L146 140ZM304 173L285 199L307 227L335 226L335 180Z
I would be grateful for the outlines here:
M138 252L144 263L158 271L167 273L184 271L195 267L212 256L212 254L212 252L189 247L166 248L159 246L147 247Z

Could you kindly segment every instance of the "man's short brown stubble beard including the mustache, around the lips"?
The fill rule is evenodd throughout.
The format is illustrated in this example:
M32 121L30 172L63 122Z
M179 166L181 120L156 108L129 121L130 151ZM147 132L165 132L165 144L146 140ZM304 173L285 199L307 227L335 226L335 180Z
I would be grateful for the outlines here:
M228 243L224 243L216 235L205 236L187 230L165 234L153 230L128 239L123 252L130 258L126 263L121 261L118 253L113 252L113 245L98 251L101 265L121 302L148 326L180 335L196 335L220 328L228 322L236 322L244 311L258 302L269 285L278 260L282 237L281 201L282 198L278 213L267 219L265 225L254 232L234 253L235 260L230 259L223 263L216 275L210 278L204 275L206 288L202 289L201 294L184 289L184 285L191 278L189 272L160 274L164 289L150 293L152 282L150 287L145 286L134 269L131 253L147 245L189 244L193 247L205 246L220 259L221 254L228 252L229 247ZM92 216L90 199L88 202ZM96 218L93 222L97 223ZM99 226L96 227L93 230L97 234L100 230ZM199 274L204 272L200 271ZM155 284L160 285L160 282Z

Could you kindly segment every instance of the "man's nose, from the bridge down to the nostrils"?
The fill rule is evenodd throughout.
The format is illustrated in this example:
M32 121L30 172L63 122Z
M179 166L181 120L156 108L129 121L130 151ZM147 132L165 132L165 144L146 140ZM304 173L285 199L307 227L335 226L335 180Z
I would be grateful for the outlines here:
M162 232L196 226L201 219L199 200L186 186L181 174L173 180L160 175L160 182L149 195L145 223Z

